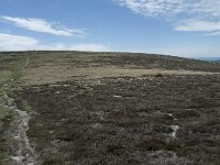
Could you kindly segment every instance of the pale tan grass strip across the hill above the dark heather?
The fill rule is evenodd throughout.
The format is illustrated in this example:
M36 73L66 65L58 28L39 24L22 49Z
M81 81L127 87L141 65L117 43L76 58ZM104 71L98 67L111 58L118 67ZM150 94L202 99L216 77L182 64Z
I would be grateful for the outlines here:
M105 77L144 77L154 75L210 75L217 73L168 69L144 69L134 66L107 67L69 67L69 66L41 66L28 68L22 77L22 85L43 85L76 79L100 79Z

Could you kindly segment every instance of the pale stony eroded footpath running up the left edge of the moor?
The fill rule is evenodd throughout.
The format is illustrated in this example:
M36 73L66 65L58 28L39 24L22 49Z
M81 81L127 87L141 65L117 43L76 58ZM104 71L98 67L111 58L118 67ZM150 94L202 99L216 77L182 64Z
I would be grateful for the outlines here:
M26 58L24 67L28 67L30 63L30 57ZM21 72L21 70L16 70ZM1 102L3 107L8 110L16 112L16 120L13 121L11 125L11 161L12 165L38 165L37 154L34 148L32 148L26 132L29 130L29 121L31 119L30 114L26 111L18 109L14 99L9 97L8 92L11 90L11 87L16 82L16 80L10 78L7 80L1 89Z

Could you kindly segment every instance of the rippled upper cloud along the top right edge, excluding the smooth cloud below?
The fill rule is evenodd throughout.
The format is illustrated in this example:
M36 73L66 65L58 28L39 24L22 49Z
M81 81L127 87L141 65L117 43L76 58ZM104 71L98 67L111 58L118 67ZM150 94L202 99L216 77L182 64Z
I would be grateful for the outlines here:
M144 15L220 16L217 0L114 0ZM196 15L195 15L196 14Z

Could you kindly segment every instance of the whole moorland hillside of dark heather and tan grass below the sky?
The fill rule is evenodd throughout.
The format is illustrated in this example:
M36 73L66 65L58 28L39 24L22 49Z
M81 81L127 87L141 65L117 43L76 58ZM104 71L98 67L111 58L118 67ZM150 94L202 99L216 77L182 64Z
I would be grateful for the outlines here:
M0 164L219 164L220 64L0 53Z

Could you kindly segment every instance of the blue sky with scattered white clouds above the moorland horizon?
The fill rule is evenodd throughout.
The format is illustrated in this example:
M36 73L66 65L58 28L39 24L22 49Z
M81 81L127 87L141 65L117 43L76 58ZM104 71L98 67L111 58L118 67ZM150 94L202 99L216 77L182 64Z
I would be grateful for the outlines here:
M0 51L220 57L218 0L0 0Z

